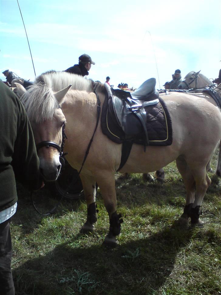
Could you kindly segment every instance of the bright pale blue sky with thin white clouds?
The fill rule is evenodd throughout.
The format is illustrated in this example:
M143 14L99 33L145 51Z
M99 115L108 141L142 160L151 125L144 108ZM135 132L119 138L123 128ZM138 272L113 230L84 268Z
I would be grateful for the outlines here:
M221 0L18 0L36 76L63 71L89 54L88 78L137 88L156 78L156 88L199 71L221 68ZM0 0L0 78L9 69L33 81L28 41L17 0Z

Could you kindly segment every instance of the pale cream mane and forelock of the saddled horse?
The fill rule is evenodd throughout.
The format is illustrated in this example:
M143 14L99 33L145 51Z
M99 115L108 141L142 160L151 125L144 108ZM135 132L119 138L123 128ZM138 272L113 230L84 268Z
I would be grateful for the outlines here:
M34 85L21 97L29 119L40 123L52 118L54 110L58 107L53 92L66 88L70 84L73 90L93 92L96 87L97 92L105 92L104 84L91 79L67 72L45 72L35 79Z

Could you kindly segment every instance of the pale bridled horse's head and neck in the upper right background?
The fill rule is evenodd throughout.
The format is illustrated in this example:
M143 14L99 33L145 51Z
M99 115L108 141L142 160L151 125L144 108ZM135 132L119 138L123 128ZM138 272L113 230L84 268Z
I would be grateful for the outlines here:
M178 89L198 89L206 86L213 85L213 82L206 76L199 72L191 71L185 75L184 80L178 85ZM200 93L202 90L192 91Z

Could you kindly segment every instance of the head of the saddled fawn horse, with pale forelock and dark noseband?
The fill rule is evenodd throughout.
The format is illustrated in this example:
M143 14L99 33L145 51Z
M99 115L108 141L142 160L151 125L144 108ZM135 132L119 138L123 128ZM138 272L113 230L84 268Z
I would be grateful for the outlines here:
M56 180L66 121L60 105L71 85L56 93L45 85L34 85L28 91L22 85L16 86L32 126L42 176L46 181Z

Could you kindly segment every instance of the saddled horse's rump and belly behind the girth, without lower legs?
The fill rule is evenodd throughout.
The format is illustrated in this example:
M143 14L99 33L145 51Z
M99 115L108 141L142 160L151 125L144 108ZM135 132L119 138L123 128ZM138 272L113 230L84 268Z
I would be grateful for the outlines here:
M134 144L121 172L152 172L180 155L185 156L189 165L198 163L206 167L208 164L221 136L219 110L205 99L183 93L165 96L164 100L172 120L172 144L166 147L148 146L146 152L142 145Z

